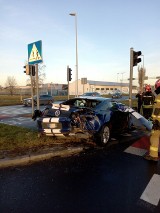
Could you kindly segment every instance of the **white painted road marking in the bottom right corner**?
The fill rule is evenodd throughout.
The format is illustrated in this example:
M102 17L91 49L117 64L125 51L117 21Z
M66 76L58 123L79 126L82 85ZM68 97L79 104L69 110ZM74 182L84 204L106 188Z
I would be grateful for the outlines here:
M155 206L158 205L160 199L160 175L154 174L152 176L140 199Z

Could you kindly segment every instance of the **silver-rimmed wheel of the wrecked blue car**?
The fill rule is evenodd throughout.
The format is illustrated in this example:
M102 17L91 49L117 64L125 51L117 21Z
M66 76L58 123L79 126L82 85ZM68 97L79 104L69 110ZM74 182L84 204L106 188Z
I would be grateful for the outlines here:
M100 132L99 143L101 146L106 146L110 140L110 127L109 125L104 125Z

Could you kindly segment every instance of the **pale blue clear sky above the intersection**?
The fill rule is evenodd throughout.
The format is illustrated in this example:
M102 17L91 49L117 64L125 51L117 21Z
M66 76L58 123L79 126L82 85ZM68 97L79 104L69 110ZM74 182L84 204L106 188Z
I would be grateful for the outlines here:
M44 83L66 84L67 66L75 80L76 19L70 13L77 15L79 79L128 82L133 48L144 55L139 66L144 63L145 82L153 84L160 76L159 8L159 0L0 0L0 85L12 76L26 85L28 44L39 40Z

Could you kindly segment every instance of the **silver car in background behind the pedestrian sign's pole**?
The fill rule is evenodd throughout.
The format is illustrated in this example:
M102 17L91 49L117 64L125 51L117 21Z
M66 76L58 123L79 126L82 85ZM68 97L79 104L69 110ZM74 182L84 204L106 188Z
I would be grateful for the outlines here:
M53 102L53 97L51 95L40 95L39 96L39 104L40 105L47 105ZM33 97L34 105L37 105L37 96ZM23 99L24 106L31 106L32 105L32 98L25 98Z

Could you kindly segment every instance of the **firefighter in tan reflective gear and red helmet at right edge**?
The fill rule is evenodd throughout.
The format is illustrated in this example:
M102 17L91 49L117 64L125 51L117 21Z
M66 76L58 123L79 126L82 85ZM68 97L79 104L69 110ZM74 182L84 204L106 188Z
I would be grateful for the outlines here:
M155 102L153 106L152 120L153 127L150 136L150 148L149 153L144 156L147 160L158 161L158 149L159 149L159 139L160 139L160 79L155 83Z

